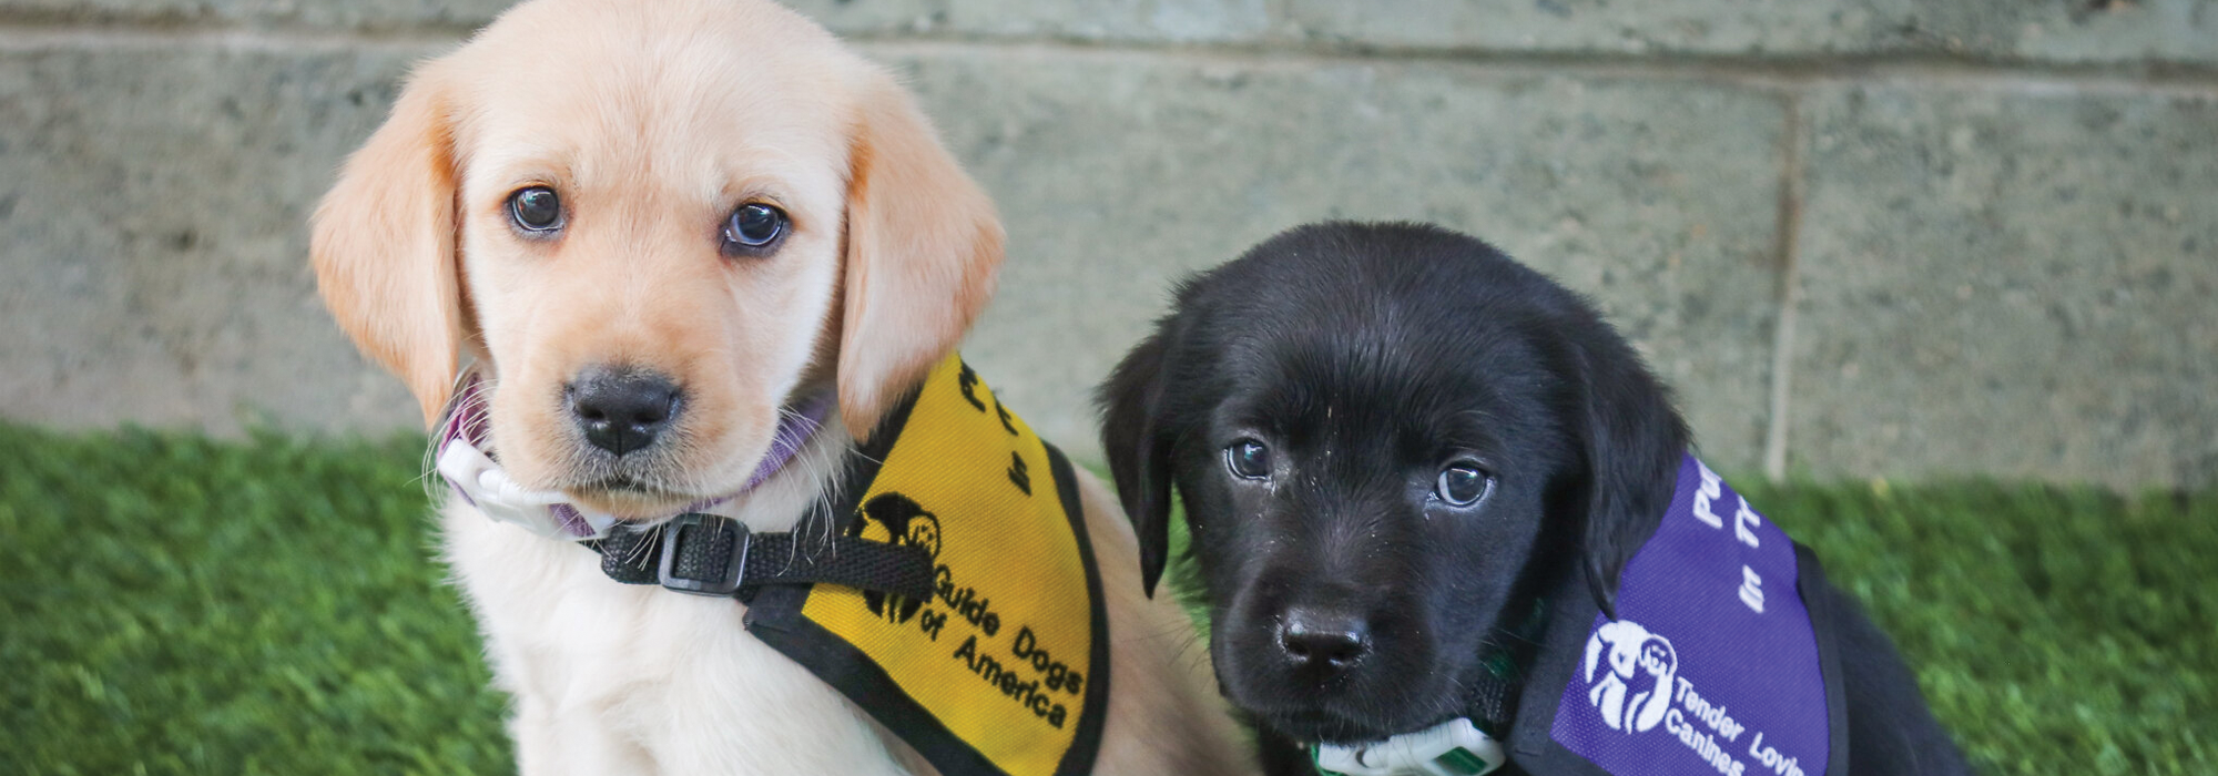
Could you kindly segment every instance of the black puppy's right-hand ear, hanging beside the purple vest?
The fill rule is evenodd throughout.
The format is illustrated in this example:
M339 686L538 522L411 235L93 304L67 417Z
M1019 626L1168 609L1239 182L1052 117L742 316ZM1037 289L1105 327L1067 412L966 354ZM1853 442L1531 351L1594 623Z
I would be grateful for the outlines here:
M1597 324L1599 326L1599 324ZM1604 328L1606 330L1606 328ZM1581 348L1586 399L1586 585L1617 619L1617 576L1655 534L1688 452L1686 421L1639 355L1617 337Z

